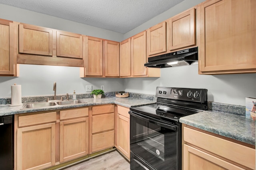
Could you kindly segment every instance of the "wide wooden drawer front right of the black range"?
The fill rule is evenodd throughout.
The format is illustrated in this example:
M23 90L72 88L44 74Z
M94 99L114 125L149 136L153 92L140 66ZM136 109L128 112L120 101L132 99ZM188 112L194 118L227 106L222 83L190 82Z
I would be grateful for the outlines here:
M184 127L184 141L255 169L255 149Z

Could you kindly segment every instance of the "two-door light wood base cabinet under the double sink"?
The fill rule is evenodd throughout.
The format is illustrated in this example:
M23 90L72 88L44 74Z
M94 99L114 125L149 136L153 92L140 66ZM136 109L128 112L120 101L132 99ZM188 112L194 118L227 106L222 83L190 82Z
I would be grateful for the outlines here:
M88 107L14 115L14 170L39 170L87 155Z

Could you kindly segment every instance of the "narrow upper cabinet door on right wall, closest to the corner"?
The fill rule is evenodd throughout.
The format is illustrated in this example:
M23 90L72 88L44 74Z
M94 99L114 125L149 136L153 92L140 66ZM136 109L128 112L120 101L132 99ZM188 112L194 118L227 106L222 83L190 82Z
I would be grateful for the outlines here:
M130 38L120 43L120 76L131 76Z

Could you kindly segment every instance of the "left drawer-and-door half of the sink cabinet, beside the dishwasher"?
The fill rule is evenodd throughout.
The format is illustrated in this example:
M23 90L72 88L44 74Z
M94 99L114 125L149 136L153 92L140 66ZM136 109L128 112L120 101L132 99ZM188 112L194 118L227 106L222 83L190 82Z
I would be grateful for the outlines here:
M15 170L38 170L55 165L56 112L15 115L14 126L17 134Z

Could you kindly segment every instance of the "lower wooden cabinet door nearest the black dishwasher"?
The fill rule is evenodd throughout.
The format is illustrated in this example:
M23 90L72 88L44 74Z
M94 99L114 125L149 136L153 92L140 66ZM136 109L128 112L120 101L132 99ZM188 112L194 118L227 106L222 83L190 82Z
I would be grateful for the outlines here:
M17 129L17 170L55 165L55 123Z

